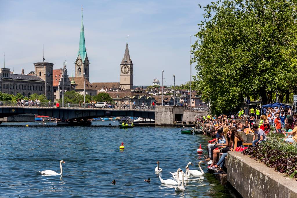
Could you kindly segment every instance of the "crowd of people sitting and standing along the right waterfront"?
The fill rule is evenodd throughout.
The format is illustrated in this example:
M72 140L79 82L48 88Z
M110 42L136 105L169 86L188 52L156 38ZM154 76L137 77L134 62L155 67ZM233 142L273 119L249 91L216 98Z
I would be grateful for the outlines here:
M256 147L261 142L267 140L267 134L283 133L285 142L297 142L297 118L296 114L292 115L291 109L263 108L262 114L260 109L243 108L238 111L237 115L221 114L211 116L195 116L194 121L202 124L204 131L209 131L215 136L213 142L208 144L208 168L218 170L215 174L223 173L222 167L225 163L228 151L241 151L244 149L243 139L240 132L253 133L252 146ZM236 118L239 118L236 120ZM244 120L244 124L243 124ZM259 124L257 124L257 123ZM274 127L275 130L271 131ZM242 148L242 149L241 149ZM221 157L218 158L219 153Z

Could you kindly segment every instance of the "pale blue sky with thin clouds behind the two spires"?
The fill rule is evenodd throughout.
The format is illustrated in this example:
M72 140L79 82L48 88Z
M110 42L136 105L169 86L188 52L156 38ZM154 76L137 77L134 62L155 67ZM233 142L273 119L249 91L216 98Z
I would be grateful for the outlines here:
M68 72L77 58L81 4L90 60L90 82L119 82L120 62L126 35L134 67L134 85L151 85L154 78L164 84L184 84L190 78L192 43L210 1L4 1L0 0L0 66L15 73L34 70L34 62L62 67L64 53ZM196 73L192 64L192 74ZM71 75L70 75L71 76Z

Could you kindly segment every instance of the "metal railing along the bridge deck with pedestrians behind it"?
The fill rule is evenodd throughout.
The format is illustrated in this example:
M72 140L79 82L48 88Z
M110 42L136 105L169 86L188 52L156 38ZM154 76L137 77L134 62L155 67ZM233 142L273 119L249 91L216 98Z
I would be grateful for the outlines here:
M57 105L58 104L58 105ZM19 106L19 107L71 107L71 108L97 108L97 109L143 109L143 110L154 110L153 105L129 105L129 104L105 104L102 107L98 107L95 103L34 103L34 102L6 102L0 101L0 106Z

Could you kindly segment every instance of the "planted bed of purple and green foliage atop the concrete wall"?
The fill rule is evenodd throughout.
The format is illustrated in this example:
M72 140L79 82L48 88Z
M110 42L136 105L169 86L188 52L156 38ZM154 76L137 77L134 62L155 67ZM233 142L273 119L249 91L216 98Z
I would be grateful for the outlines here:
M269 133L268 137L259 146L249 147L242 154L297 180L297 144L285 143L282 140L285 136L279 133Z

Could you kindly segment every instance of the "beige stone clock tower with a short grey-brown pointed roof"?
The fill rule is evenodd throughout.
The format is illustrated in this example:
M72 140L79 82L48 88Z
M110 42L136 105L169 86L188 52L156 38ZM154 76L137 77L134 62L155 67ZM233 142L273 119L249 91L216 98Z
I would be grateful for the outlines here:
M128 43L126 43L124 58L120 64L120 87L122 90L133 88L133 63L130 58Z

